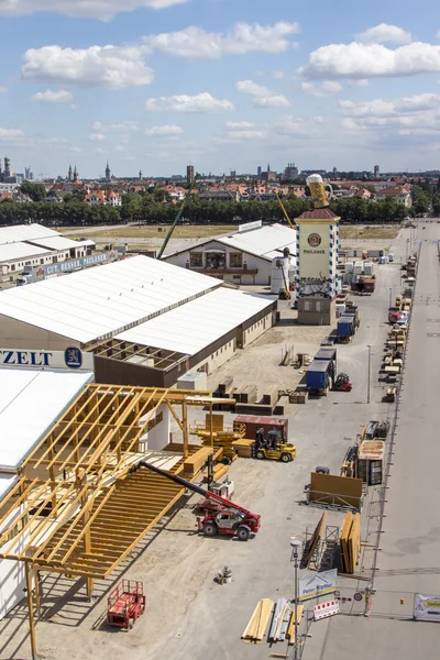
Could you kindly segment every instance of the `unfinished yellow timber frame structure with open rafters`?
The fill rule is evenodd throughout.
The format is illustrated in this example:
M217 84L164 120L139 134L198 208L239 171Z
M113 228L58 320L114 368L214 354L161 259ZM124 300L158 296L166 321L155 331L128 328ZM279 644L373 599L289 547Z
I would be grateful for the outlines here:
M188 406L208 406L212 418L213 400L208 392L88 385L23 462L0 502L0 559L25 562L33 658L32 571L37 610L38 571L84 576L91 597L94 579L108 578L185 491L148 471L129 474L145 459L140 441L160 407L168 407L183 444L151 453L178 473L200 449L189 444Z

